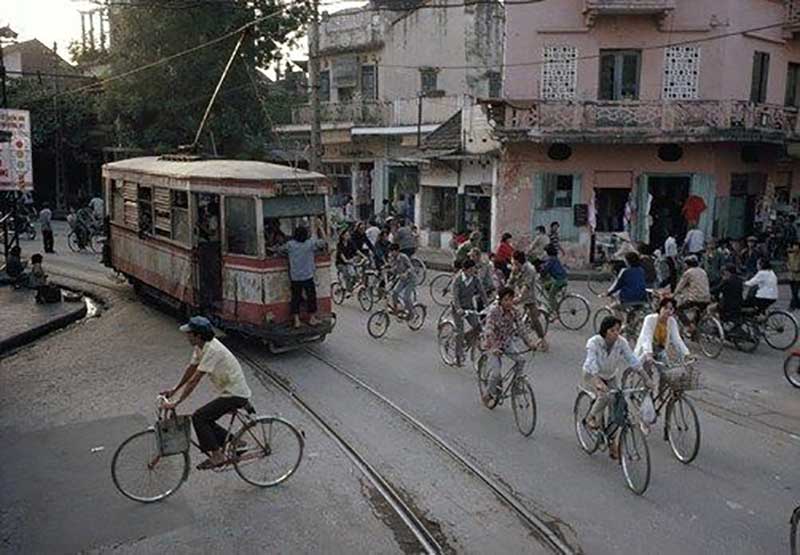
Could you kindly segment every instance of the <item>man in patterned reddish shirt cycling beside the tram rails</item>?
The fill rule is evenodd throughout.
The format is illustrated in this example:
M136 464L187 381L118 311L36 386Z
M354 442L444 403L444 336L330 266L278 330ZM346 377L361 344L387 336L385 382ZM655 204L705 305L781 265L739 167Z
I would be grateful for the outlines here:
M525 256L525 253L522 253ZM525 369L525 351L534 347L527 344L520 315L514 308L514 290L501 287L497 293L498 302L492 305L484 324L484 344L489 353L491 375L484 394L483 404L490 406L492 400L501 394L503 379L503 356L514 361L512 370L519 374Z

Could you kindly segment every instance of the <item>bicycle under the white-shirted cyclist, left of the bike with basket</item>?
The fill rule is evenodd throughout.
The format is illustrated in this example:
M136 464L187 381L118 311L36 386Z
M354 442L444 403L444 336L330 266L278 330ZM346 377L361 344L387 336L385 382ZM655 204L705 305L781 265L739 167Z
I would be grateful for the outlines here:
M624 383L623 374L623 383ZM647 388L620 387L608 390L612 396L610 403L611 415L606 417L604 411L602 423L597 431L590 430L586 425L586 418L596 398L594 391L586 386L578 386L578 396L575 398L573 417L575 420L575 434L578 445L587 454L594 454L597 449L602 451L609 448L614 435L619 432L619 458L625 484L633 493L642 495L650 484L650 448L647 438L639 429L635 411L629 410L630 398L637 393L646 392Z

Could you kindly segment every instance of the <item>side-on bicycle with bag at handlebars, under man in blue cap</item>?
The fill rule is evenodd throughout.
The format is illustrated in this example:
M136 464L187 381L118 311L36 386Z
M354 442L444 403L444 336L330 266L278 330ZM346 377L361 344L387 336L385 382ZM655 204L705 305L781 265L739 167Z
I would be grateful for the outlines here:
M158 396L158 420L175 416L163 408L166 398ZM249 402L230 411L228 436L222 446L225 462L215 472L231 467L248 484L273 487L286 481L300 465L305 440L303 433L278 416L255 415ZM234 431L234 425L240 424ZM189 436L189 442L200 450ZM133 501L155 503L174 494L189 478L189 451L162 455L156 428L151 426L127 438L111 459L111 478L119 492Z

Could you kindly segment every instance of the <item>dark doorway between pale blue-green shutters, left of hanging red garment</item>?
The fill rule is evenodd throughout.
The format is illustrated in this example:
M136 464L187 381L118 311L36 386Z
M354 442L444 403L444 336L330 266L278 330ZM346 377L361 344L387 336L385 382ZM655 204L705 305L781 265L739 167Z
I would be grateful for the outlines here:
M650 204L650 246L663 248L670 233L680 244L686 236L687 224L682 210L689 198L691 177L687 176L649 176L649 193L653 196Z

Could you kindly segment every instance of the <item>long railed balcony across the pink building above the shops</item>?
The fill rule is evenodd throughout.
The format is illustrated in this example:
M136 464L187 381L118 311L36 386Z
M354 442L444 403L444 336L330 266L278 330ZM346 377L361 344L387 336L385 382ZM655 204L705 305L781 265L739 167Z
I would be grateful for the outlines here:
M797 110L740 100L496 103L490 115L498 135L511 142L800 140Z

